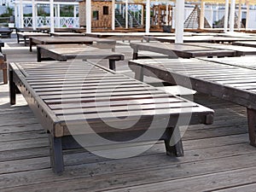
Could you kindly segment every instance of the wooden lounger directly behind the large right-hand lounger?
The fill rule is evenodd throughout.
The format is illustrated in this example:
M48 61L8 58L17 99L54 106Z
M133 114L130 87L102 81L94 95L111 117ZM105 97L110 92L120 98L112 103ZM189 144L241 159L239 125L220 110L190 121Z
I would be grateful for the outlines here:
M228 49L216 49L216 48L206 48L199 46L190 46L187 44L163 44L160 42L151 43L131 43L131 48L133 49L133 59L138 58L139 50L152 51L164 55L168 55L169 58L192 58L199 56L236 56L236 51Z

